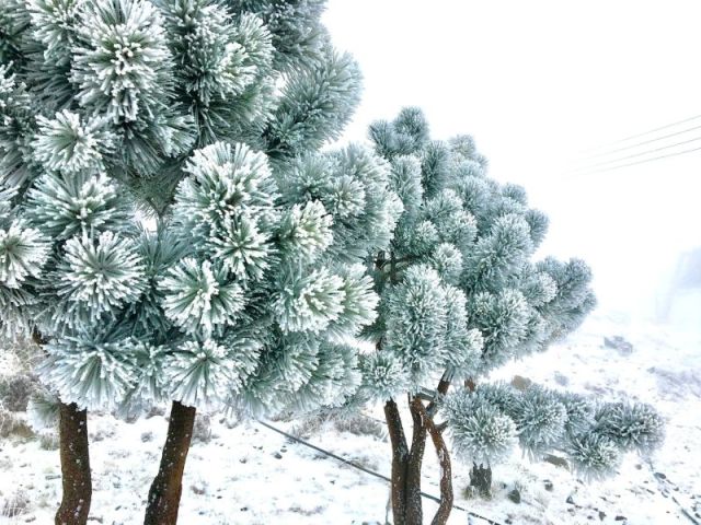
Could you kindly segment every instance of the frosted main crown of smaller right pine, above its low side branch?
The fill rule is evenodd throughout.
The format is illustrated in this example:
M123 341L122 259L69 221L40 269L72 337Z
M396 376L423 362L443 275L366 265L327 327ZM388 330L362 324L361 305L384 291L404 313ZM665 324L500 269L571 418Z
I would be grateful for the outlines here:
M470 137L432 141L422 112L406 108L370 138L404 207L375 261L380 317L367 331L386 357L364 363L371 397L388 394L377 365L401 363L394 394L415 392L436 373L474 380L578 326L595 304L588 267L531 262L548 220L524 188L487 177Z

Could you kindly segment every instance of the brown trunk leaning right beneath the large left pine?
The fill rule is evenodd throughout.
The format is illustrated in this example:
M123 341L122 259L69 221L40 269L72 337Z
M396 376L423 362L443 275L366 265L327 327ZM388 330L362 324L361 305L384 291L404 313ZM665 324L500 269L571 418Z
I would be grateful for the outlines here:
M193 435L195 412L195 408L173 401L161 466L149 490L143 525L177 523L183 472Z

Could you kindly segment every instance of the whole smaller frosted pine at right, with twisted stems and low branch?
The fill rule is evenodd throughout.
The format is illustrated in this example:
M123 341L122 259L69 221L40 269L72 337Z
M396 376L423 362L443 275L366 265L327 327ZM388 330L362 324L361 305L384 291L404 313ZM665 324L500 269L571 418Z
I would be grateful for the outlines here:
M369 135L391 165L391 188L404 211L390 247L374 262L380 315L365 330L375 351L361 357L356 402L384 402L394 524L423 523L427 436L441 467L433 523L446 523L452 506L446 430L459 456L474 464L473 475L517 443L532 458L562 451L588 476L611 471L624 451L658 444L662 422L651 407L479 384L491 370L545 350L582 323L595 305L590 271L577 259L531 261L547 217L528 206L524 188L487 177L470 137L430 140L416 108L375 122ZM448 395L451 385L457 393ZM400 396L409 396L411 443Z

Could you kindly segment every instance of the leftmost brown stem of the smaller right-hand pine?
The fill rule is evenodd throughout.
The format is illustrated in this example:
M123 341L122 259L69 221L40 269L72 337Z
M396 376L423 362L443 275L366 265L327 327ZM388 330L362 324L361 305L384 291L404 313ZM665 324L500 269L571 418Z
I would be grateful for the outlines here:
M399 415L397 402L390 399L384 404L384 419L392 446L392 518L394 525L406 523L406 470L409 463L409 447Z

